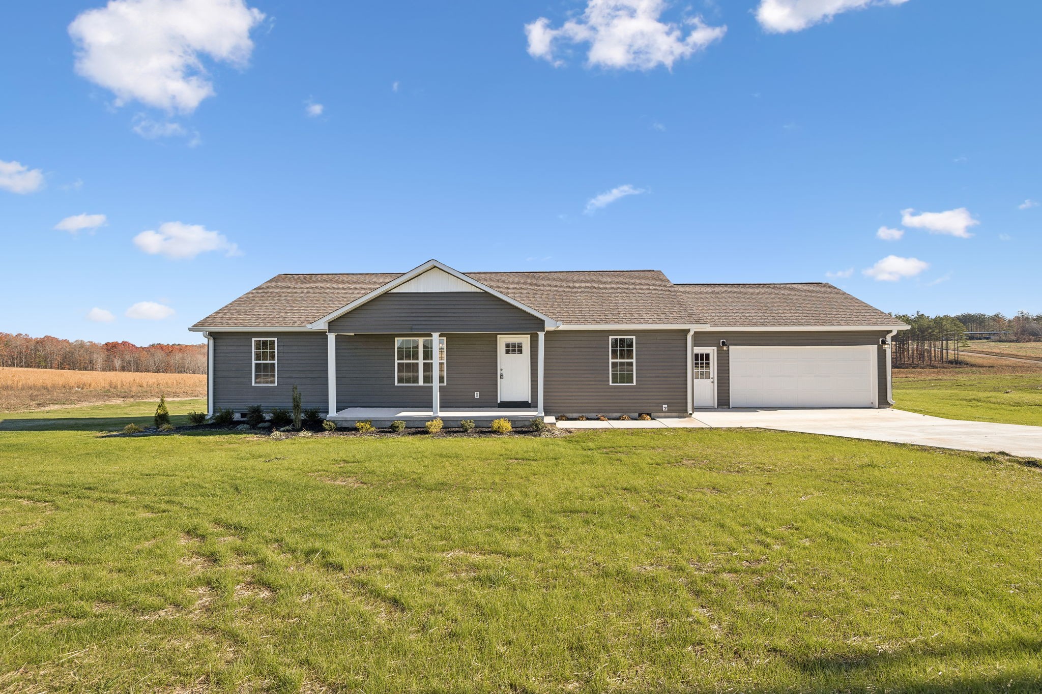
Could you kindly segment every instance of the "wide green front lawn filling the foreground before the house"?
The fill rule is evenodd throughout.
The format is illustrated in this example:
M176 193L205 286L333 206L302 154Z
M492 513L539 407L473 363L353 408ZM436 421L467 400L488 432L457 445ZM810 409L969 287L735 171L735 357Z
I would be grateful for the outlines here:
M779 432L7 431L0 690L1034 692L1040 496Z

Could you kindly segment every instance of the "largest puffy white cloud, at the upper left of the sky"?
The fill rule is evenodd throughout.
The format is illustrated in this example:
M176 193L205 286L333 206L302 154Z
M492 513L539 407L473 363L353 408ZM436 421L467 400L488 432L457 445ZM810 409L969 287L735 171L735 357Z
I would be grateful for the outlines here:
M109 0L80 12L69 35L76 72L113 92L116 105L191 113L215 94L202 57L245 67L264 17L244 0Z

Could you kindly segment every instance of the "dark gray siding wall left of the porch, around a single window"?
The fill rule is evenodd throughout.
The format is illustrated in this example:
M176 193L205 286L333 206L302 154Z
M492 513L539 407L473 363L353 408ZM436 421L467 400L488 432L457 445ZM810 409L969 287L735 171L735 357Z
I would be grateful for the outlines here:
M242 412L250 405L289 408L293 386L300 389L304 407L327 406L325 333L212 333L214 336L214 405ZM274 386L253 385L253 338L276 338L277 381Z

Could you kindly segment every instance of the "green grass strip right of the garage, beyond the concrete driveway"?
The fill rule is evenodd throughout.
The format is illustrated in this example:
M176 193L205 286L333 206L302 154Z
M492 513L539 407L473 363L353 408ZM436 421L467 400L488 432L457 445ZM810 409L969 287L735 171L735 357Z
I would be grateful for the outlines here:
M949 419L1042 426L1042 369L894 370L896 407Z

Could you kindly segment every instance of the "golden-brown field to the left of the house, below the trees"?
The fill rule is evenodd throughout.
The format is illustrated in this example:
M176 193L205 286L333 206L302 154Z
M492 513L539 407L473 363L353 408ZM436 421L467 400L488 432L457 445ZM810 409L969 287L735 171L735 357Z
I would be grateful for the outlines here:
M201 374L67 371L53 368L0 367L0 412L123 401L205 397Z

